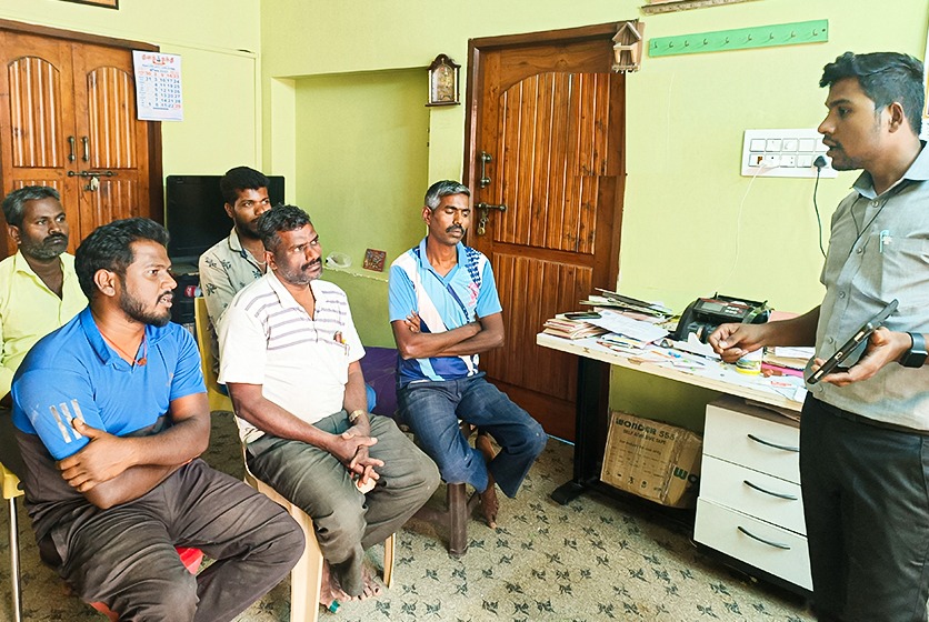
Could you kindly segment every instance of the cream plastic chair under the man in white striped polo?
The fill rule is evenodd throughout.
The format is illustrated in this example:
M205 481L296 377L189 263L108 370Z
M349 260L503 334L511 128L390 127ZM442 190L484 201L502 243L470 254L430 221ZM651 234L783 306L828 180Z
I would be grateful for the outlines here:
M256 478L249 471L246 461L246 448L242 447L242 461L246 464L244 482L268 496L271 501L282 506L293 516L293 520L303 530L307 546L303 555L293 570L290 572L290 621L291 622L317 622L319 615L319 592L322 588L322 551L313 531L312 519L300 508L281 496L270 485ZM390 588L393 584L393 554L397 534L383 542L383 584Z

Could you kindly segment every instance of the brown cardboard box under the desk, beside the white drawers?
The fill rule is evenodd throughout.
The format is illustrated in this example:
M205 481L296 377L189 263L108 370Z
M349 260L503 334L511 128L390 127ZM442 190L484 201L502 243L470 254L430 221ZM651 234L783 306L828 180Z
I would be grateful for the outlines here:
M600 479L670 508L696 508L703 439L693 432L610 413Z

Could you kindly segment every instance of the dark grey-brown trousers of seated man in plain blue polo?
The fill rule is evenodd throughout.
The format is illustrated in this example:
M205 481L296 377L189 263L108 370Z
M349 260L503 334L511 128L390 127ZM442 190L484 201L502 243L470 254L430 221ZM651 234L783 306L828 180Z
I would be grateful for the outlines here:
M303 533L280 505L199 459L134 501L56 525L51 538L58 573L120 620L232 620L303 552ZM193 576L174 546L217 561Z

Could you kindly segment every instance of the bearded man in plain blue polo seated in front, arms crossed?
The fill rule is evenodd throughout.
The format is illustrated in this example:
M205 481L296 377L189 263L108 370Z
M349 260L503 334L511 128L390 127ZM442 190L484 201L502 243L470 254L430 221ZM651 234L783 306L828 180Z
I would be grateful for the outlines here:
M76 253L90 304L13 378L26 506L42 559L121 620L228 621L297 563L276 503L198 458L210 412L193 338L169 323L168 232L146 219ZM217 560L198 576L176 546Z

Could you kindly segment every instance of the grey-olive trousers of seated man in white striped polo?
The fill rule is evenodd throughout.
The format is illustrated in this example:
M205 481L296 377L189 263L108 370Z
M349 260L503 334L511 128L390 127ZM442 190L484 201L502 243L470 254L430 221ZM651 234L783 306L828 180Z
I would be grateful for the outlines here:
M364 589L364 549L403 526L439 485L436 465L392 419L369 417L371 435L378 439L369 454L383 460L383 466L374 469L380 479L368 494L358 491L348 470L326 450L270 434L248 445L249 470L309 514L322 556L353 596ZM350 428L343 410L313 425L331 434Z

